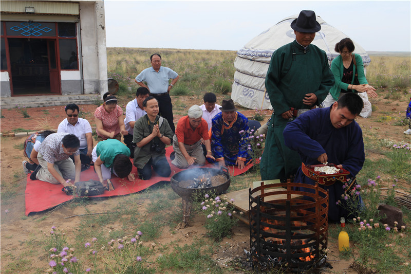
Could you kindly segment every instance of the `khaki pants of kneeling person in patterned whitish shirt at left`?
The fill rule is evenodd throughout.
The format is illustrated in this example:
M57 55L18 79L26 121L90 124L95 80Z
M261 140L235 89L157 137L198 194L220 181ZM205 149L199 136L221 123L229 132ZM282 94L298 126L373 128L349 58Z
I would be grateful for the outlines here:
M56 178L54 178L54 176L51 175L51 173L48 171L47 161L43 158L43 154L39 152L37 159L39 160L40 166L42 166L42 168L37 173L36 178L41 181L51 182L51 184L60 184L60 182ZM74 166L73 160L71 160L70 158L54 162L54 169L65 180L71 179L74 182L74 179L76 178L76 167Z

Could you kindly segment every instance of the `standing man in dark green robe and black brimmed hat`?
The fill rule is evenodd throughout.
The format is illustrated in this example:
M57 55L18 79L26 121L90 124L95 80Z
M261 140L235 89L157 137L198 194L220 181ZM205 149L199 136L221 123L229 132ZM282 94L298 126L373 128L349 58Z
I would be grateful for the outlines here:
M300 156L284 144L283 131L298 115L320 105L334 85L326 53L311 45L321 26L311 10L303 10L291 23L292 43L271 57L266 89L273 106L266 145L261 157L262 180L291 178L301 166Z

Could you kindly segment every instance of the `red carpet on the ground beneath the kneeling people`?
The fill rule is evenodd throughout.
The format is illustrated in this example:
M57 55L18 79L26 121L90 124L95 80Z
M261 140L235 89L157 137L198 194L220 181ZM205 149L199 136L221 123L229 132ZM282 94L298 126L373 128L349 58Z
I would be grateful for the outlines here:
M165 154L167 156L167 160L169 160L170 167L171 167L171 175L170 177L159 177L153 171L153 176L150 180L141 180L138 178L137 175L137 168L133 166L133 173L136 177L134 181L129 181L127 178L118 178L115 175L111 177L111 182L113 182L114 191L104 191L103 194L93 197L109 197L109 196L120 196L120 195L127 195L130 193L136 193L142 191L154 184L157 184L159 181L170 181L171 176L175 173L180 172L181 169L176 168L174 165L171 164L170 161L170 153L173 151L173 147L168 147L165 150ZM240 170L238 168L229 167L229 173L232 176L236 176L242 174L249 170L253 165L248 165L244 169ZM197 166L198 167L198 166ZM209 168L216 168L215 165L209 164L204 167ZM95 179L99 180L97 174L94 172L94 168L91 167L90 169L83 171L81 173L81 180L89 180ZM58 206L68 200L72 199L73 196L68 196L64 192L61 191L63 188L62 185L53 185L49 182L39 181L39 180L30 180L30 174L27 175L27 186L26 186L26 216L28 216L32 212L40 212L46 209L50 209L52 207Z

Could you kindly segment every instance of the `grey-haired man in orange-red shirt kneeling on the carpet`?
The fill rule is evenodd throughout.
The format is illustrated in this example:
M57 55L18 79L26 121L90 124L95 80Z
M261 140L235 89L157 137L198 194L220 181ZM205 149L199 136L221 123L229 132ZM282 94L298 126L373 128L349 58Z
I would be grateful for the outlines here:
M171 162L180 169L186 169L196 163L203 166L206 157L215 160L211 155L210 136L207 121L202 118L202 110L198 105L189 108L187 116L182 117L176 127L173 138L175 158ZM204 139L207 155L204 157L201 147L201 138Z

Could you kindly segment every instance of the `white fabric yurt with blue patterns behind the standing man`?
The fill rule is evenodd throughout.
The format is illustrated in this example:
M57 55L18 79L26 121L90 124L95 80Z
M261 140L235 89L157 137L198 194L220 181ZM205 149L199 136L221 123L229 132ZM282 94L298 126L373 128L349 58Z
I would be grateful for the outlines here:
M235 103L247 108L272 109L270 99L264 92L268 66L276 49L295 40L294 30L290 25L297 17L298 15L293 15L283 19L237 51L231 93ZM315 34L312 44L327 53L331 65L331 61L339 55L334 51L335 44L348 36L328 25L320 16L317 16L316 20L321 25L321 30ZM355 41L353 42L356 47L354 52L360 54L364 66L367 66L370 62L367 52Z

